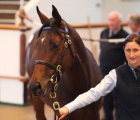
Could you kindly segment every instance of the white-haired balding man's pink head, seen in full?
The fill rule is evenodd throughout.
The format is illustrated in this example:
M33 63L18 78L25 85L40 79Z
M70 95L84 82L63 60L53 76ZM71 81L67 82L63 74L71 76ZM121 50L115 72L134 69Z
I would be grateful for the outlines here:
M121 14L112 11L108 16L108 26L111 31L116 31L121 26Z

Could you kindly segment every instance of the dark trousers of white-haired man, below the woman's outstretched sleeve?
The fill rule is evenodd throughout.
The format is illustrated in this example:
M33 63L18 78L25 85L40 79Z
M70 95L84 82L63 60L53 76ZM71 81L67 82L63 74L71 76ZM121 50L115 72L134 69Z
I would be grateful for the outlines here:
M113 120L113 110L116 108L115 89L104 97L104 112L107 120Z

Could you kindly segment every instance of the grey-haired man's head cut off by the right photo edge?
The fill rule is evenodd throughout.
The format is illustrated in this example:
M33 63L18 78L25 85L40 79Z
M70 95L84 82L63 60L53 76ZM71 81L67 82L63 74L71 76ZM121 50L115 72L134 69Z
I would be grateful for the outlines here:
M129 15L128 26L132 32L138 32L140 30L140 16L138 14Z

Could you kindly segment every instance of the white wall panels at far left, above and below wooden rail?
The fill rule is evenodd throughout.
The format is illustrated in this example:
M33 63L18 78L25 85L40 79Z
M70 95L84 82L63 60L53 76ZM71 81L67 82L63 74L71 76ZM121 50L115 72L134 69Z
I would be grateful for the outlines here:
M0 76L20 77L19 30L0 30ZM18 79L0 78L0 103L24 104L24 83Z

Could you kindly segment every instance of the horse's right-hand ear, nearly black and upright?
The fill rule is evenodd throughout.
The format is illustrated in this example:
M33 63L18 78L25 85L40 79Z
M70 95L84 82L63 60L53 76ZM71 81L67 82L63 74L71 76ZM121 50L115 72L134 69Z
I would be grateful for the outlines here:
M55 7L54 5L52 5L52 8L53 8L52 16L53 16L53 18L55 19L56 23L57 23L58 25L60 25L60 24L61 24L62 18L61 18L59 12L57 11L57 9L56 9L56 7Z

